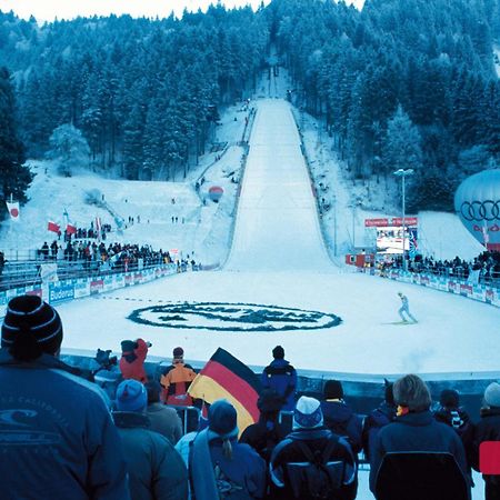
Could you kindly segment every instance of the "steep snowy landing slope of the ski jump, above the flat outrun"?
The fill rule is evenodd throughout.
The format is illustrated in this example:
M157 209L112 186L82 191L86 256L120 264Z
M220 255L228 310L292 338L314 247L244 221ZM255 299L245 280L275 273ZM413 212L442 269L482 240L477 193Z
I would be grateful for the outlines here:
M330 267L288 102L259 102L226 270Z

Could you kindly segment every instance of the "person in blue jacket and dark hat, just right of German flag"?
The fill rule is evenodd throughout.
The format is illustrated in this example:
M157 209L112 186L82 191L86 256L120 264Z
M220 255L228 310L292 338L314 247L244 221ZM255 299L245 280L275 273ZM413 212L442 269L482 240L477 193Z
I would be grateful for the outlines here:
M297 388L296 369L284 359L284 349L281 346L272 350L272 357L274 360L262 372L262 388L274 389L281 396L283 399L281 410L293 411Z

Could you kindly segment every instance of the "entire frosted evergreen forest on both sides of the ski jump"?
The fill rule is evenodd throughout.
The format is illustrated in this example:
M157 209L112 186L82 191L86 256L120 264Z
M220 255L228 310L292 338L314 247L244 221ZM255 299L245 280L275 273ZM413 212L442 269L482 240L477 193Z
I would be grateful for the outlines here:
M0 12L0 188L24 200L24 159L61 140L91 169L181 180L273 48L353 180L412 168L409 209L452 210L464 177L500 164L499 46L500 0L272 0L42 26Z

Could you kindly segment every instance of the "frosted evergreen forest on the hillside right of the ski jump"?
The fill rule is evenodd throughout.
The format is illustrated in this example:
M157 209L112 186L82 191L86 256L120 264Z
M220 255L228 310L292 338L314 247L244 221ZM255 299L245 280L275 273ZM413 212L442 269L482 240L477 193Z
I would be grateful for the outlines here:
M394 144L410 142L411 208L451 209L466 174L498 163L498 0L367 0L361 12L274 0L270 10L298 102L326 119L354 178L390 174Z

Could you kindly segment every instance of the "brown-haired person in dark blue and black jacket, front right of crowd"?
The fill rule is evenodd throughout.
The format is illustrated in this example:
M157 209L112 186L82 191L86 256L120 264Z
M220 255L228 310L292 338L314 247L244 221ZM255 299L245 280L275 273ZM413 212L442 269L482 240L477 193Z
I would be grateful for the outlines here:
M416 492L409 490L408 484L422 484L417 492L419 499L470 498L462 441L452 428L433 418L426 382L416 374L407 374L394 382L392 391L398 406L397 416L393 422L380 429L370 452L370 490L377 498L381 498L380 491L390 489L391 494L414 499ZM386 461L384 457L389 453L390 461ZM418 466L423 456L424 471ZM450 456L453 460L449 460ZM397 480L389 479L388 472L379 474L384 463L389 463L390 470L397 468ZM421 477L426 472L430 476L427 482ZM441 480L437 483L431 474L438 474Z

